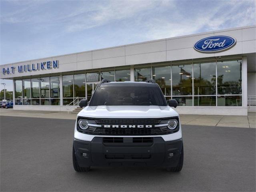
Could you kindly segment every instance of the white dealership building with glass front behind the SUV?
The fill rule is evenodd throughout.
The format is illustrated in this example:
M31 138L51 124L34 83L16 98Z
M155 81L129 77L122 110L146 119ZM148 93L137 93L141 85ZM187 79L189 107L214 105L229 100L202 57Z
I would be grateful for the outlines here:
M256 26L4 64L14 110L72 111L102 79L154 79L180 114L256 112ZM120 93L122 94L122 93ZM250 103L250 104L249 104Z

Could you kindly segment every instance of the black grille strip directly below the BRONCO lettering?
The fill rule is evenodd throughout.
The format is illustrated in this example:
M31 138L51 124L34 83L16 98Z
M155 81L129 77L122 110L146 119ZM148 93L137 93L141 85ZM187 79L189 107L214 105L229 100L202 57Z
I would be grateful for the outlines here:
M94 135L162 135L160 128L96 128Z

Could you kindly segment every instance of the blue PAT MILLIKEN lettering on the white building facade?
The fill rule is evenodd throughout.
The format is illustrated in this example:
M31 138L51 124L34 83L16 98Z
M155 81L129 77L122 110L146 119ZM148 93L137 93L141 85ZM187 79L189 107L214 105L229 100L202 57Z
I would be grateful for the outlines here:
M46 62L40 62L40 63L33 63L33 64L26 64L26 65L19 65L16 67L7 67L2 68L2 73L5 74L14 74L15 71L18 71L19 73L23 72L33 72L33 71L39 71L39 70L49 70L49 69L55 69L59 68L59 61L46 61Z

